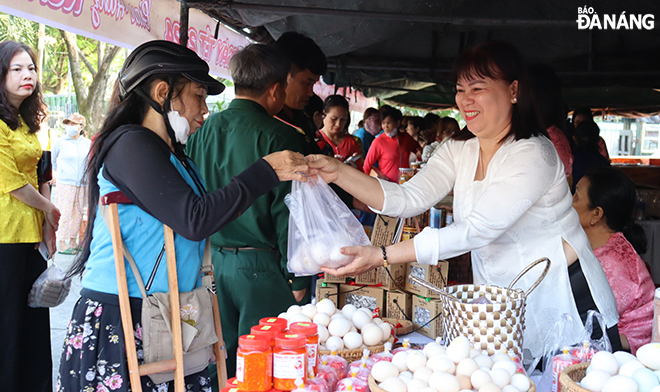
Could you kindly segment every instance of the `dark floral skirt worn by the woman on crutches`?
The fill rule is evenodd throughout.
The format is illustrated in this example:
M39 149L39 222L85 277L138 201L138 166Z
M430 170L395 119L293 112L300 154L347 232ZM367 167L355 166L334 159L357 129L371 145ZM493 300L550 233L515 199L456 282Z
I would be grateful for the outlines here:
M141 301L131 298L138 363L144 363ZM116 295L83 289L67 327L56 392L130 391L124 332ZM154 384L143 376L145 392L174 391L174 383ZM187 392L211 392L208 369L185 377Z

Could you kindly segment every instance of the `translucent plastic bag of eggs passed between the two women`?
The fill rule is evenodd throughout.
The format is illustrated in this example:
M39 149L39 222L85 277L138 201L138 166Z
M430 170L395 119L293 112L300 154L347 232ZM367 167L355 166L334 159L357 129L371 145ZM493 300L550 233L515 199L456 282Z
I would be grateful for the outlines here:
M371 245L355 215L321 177L293 181L284 198L289 208L289 272L314 275L321 267L338 268L353 261L344 246Z

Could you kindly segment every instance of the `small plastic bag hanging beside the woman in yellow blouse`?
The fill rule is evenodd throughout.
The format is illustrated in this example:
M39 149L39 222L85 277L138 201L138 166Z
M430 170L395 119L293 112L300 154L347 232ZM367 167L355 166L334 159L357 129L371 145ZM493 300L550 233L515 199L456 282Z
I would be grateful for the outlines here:
M64 271L55 263L46 268L32 284L32 290L28 294L28 306L53 308L64 302L71 289L71 278L64 279L64 275Z

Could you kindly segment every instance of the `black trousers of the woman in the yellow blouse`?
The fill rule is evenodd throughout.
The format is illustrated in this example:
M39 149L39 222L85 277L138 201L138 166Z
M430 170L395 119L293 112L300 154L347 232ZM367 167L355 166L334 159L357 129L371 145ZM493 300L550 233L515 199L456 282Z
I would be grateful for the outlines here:
M53 390L47 308L27 306L32 283L46 269L35 244L0 244L0 389Z

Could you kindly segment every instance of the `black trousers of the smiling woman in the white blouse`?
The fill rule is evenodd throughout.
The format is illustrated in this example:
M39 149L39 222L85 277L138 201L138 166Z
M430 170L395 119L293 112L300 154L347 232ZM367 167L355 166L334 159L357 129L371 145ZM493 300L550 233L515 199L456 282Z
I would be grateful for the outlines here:
M593 297L591 296L591 291L587 285L587 279L584 277L582 272L582 267L580 266L580 260L575 261L568 267L568 277L571 281L571 290L573 291L573 298L575 299L575 304L578 308L578 313L582 319L582 324L587 321L587 313L590 310L596 310L596 303L594 302ZM600 329L600 325L596 320L594 320L594 329L591 334L592 339L600 339L603 336L603 331ZM623 347L621 346L621 337L619 336L619 327L618 325L613 325L607 329L607 337L612 343L612 351L621 351Z

